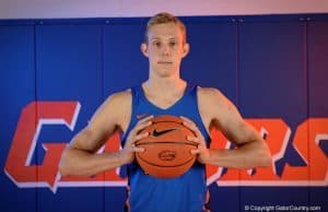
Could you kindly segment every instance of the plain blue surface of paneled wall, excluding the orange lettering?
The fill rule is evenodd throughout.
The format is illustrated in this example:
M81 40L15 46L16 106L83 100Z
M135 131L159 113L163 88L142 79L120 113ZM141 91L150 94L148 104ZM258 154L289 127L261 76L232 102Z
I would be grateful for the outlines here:
M189 56L183 61L183 78L221 90L245 118L283 119L292 134L285 156L277 162L277 175L282 175L286 163L305 166L292 140L303 121L328 117L328 15L183 20L191 45ZM148 60L139 50L145 22L145 19L0 21L1 211L121 210L124 187L59 187L56 192L45 187L19 188L5 174L4 166L22 109L30 103L81 104L72 131L65 126L43 128L32 157L32 163L38 165L46 154L43 143L69 142L106 96L147 79ZM327 157L327 140L319 146ZM323 164L327 167L327 162ZM326 186L212 184L211 208L214 212L237 212L251 204L292 204L319 205L321 211L328 211L327 185L327 181Z

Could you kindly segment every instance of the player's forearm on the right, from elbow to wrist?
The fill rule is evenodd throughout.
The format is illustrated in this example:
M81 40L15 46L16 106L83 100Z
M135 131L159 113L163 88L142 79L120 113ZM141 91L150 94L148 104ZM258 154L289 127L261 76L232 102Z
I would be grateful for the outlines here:
M249 142L234 150L209 150L206 164L229 168L254 168L271 165L267 146L260 141Z

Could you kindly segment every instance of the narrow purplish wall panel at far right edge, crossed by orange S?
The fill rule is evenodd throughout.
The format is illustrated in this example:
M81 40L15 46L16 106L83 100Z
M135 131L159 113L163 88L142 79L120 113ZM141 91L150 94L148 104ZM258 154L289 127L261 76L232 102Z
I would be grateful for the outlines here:
M311 118L325 118L328 120L328 23L319 20L308 22L308 116ZM309 122L311 134L327 134L328 122ZM318 130L321 128L324 130ZM327 157L328 157L328 138L326 136L316 144L311 137L309 149L309 173L313 180L318 184L311 188L309 205L321 207L321 211L328 210L327 202ZM318 174L317 174L318 173Z

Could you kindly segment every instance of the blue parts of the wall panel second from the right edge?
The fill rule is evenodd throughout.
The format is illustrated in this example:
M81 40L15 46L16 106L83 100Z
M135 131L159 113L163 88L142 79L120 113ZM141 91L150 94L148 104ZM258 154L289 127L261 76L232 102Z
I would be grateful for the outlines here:
M307 118L304 47L305 24L298 21L246 19L239 26L238 99L242 114L246 118L281 118L291 128L285 153L274 163L279 177L284 174L285 164L305 165L292 145L296 127ZM274 137L269 131L267 138L270 136ZM302 139L306 142L307 137ZM307 175L308 170L305 172ZM278 182L273 180L276 185L267 184L266 188L243 187L241 211L247 205L308 204L308 187L304 182L296 187L280 187Z

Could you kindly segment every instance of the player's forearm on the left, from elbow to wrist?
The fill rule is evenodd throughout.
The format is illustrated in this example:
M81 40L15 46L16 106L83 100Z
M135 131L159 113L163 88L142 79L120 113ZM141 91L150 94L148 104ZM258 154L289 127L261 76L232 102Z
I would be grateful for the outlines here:
M93 176L119 167L126 162L120 152L93 154L86 151L70 149L62 155L59 170L62 176Z

